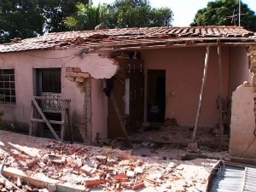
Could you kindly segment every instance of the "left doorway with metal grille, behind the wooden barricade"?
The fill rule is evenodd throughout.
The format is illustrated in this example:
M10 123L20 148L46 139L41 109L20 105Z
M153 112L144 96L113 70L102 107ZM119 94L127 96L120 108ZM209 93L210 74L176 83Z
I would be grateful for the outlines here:
M61 97L61 68L36 69L36 96ZM39 105L47 119L61 121L61 106L58 102L43 101ZM60 136L61 125L51 124L51 126ZM42 137L54 138L46 124L38 130Z

